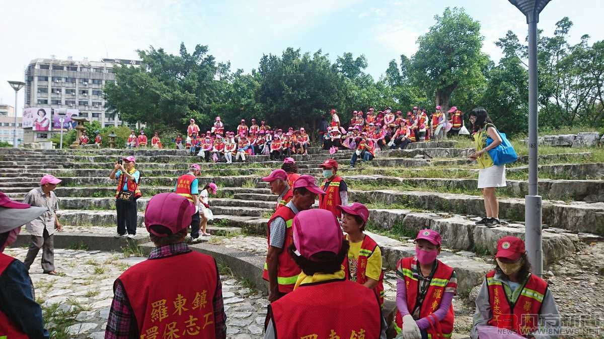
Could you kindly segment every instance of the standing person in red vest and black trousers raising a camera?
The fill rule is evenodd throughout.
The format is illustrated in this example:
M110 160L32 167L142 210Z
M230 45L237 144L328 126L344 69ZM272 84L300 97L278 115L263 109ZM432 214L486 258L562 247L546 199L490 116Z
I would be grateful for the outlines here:
M109 178L118 182L115 192L115 209L117 210L117 235L134 238L137 234L137 199L141 197L138 180L141 173L134 168L135 157L127 156L117 160Z

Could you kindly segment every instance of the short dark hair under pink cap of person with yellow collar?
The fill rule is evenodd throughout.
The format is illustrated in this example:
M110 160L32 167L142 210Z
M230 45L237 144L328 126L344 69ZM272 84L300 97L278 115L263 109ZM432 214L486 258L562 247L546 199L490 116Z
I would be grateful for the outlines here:
M295 263L301 268L301 270L307 276L312 276L315 273L336 273L341 269L342 261L345 256L348 255L350 245L348 240L342 239L342 248L340 252L335 255L332 252L319 252L311 256L312 260L306 259L303 256L297 256L294 251L296 247L291 244L288 248L289 255L294 258Z

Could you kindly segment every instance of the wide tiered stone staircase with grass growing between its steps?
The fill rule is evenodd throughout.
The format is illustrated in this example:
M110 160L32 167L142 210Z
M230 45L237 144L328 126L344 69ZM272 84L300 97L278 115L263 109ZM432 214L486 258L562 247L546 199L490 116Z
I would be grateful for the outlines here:
M457 148L455 142L425 142L409 145L407 150L385 150L370 163L349 169L352 151L327 151L310 148L307 156L294 156L299 173L320 176L318 167L333 157L340 164L339 174L349 185L350 201L370 206L371 236L382 247L384 267L394 269L404 256L414 255L413 236L429 227L443 236L440 259L455 268L458 294L467 296L480 285L484 273L492 268L496 241L502 236L524 238L524 195L527 182L508 180L507 188L498 191L500 198L499 227L476 226L483 216L484 205L477 187L477 173L469 166L467 155L472 150ZM250 156L245 163L202 163L199 157L176 150L22 150L0 149L0 191L22 199L39 185L43 174L53 174L63 182L56 189L60 220L65 232L57 233L57 246L82 241L91 249L126 246L125 239L112 239L115 232L115 180L109 179L118 157L134 155L141 171L143 197L137 201L140 235L133 241L149 247L144 232L144 209L159 192L172 191L175 180L193 162L202 166L200 182L215 182L217 195L210 198L214 220L208 232L214 235L264 236L266 222L275 206L266 183L260 178L281 162L268 156ZM604 236L604 164L573 163L585 153L559 153L540 156L547 165L542 173L556 177L570 173L574 179L540 179L543 195L543 249L546 267L573 256L585 242L599 241ZM509 168L508 173L522 175L527 169L525 157ZM430 174L430 171L438 175ZM440 175L440 174L445 175ZM427 175L429 174L429 176ZM441 177L435 177L441 176ZM77 230L73 232L72 230ZM390 235L390 236L386 236ZM20 241L25 241L24 232ZM63 238L62 240L60 238ZM210 238L211 239L211 238ZM236 271L265 289L260 277L263 254L260 248L234 249L206 242L194 245L196 250L216 256ZM395 284L396 285L396 284Z

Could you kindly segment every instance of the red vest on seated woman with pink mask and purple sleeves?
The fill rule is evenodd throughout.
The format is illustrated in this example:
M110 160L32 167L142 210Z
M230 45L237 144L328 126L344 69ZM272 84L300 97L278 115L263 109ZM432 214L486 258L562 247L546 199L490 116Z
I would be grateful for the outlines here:
M407 290L407 308L410 312L416 307L417 302L417 294L419 293L419 282L417 279L413 277L413 271L411 270L411 262L413 261L413 257L400 259L396 264L396 270L402 268L403 274L405 274L405 284ZM434 313L440 306L440 300L442 300L443 294L445 294L445 287L451 279L451 274L453 274L453 268L448 265L443 264L442 261L438 260L438 267L434 272L434 276L430 282L428 287L428 291L426 291L425 299L423 299L422 306L419 311L419 317L425 318L428 315ZM418 263L419 265L419 263ZM451 337L451 333L453 332L453 304L451 303L451 307L449 308L449 312L445 315L442 322L437 322L437 320L428 318L432 326L428 328L428 335L432 338L444 338ZM396 311L396 331L400 332L400 329L403 326L403 318L400 315L399 311Z

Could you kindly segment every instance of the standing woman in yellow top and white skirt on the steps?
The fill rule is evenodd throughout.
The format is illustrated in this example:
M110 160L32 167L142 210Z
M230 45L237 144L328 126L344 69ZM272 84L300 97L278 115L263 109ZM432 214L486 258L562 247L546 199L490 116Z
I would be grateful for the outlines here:
M495 125L482 107L470 112L470 122L474 127L474 145L476 151L469 158L476 160L480 171L478 172L478 188L483 191L484 209L486 217L477 221L477 225L496 227L499 224L499 203L495 196L495 188L506 186L506 165L493 165L489 151L501 144L501 137ZM487 146L487 138L493 142Z

